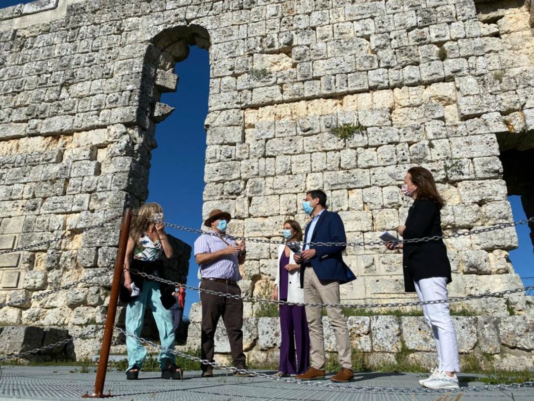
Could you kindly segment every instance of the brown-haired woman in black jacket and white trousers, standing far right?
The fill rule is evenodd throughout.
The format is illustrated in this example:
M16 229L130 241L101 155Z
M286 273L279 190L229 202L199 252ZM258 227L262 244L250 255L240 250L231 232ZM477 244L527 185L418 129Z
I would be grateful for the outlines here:
M422 167L408 170L404 195L414 199L405 225L398 227L405 240L441 237L441 208L445 202L437 192L431 172ZM394 249L394 245L388 248ZM447 284L451 282L451 264L442 239L406 242L403 248L404 287L406 292L417 292L421 302L447 300ZM438 367L430 377L420 380L428 388L458 388L455 372L460 371L458 342L449 313L449 303L423 304L423 314L432 328L436 341Z

